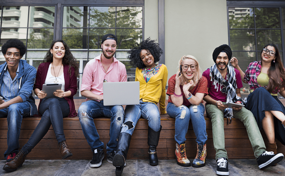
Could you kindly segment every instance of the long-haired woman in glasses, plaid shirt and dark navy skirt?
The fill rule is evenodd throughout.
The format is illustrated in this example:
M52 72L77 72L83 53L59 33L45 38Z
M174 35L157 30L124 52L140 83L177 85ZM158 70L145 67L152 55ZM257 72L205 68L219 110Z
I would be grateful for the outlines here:
M237 58L231 58L230 62L250 87L245 108L253 113L259 129L263 128L268 139L266 150L276 154L275 138L285 145L285 107L277 98L278 92L285 97L285 71L276 45L267 44L260 57L261 61L251 62L245 73L238 66Z

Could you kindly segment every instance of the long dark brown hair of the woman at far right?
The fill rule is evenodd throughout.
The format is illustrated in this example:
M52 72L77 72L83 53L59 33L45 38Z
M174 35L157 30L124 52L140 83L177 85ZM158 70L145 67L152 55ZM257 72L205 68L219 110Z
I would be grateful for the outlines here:
M284 71L283 63L280 58L280 54L279 54L279 50L277 46L271 43L271 44L265 45L265 47L263 48L266 48L268 46L275 48L275 60L271 61L271 66L268 70L269 82L268 82L268 86L266 87L266 90L268 90L268 92L271 93L276 87L279 88L281 86L282 84L281 79L285 81L285 71ZM261 55L262 55L262 51L260 53L260 57ZM261 64L262 64L262 60L261 60Z

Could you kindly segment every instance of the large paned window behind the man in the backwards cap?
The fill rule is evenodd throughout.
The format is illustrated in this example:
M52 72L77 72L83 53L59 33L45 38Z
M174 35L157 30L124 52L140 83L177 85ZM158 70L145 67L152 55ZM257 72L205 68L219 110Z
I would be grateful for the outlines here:
M134 81L135 68L129 64L127 52L142 41L142 7L64 6L63 10L62 39L71 49L77 49L72 50L75 55L82 51L88 53L87 57L76 58L82 63L80 70L83 71L88 60L102 53L102 37L111 33L118 38L115 57L125 64L128 81Z

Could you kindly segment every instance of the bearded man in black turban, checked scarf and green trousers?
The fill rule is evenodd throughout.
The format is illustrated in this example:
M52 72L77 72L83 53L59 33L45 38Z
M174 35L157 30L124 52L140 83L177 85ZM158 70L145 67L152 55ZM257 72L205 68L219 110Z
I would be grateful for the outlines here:
M280 153L274 155L273 152L265 151L265 144L257 123L249 110L242 107L228 108L223 105L225 103L245 104L240 98L242 87L240 72L228 65L231 57L232 51L228 45L217 47L213 52L215 64L203 73L208 80L209 94L204 97L207 102L205 109L212 122L213 142L218 162L217 174L219 175L229 175L228 156L225 150L224 117L229 118L230 123L233 117L244 123L259 168L267 168L283 159Z

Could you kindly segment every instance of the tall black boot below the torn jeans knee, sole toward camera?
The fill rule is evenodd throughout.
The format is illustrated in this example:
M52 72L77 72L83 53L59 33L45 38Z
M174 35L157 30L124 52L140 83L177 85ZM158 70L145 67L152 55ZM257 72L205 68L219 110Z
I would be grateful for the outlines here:
M117 150L113 159L113 166L116 167L116 176L121 176L127 159L127 154L131 142L129 133L120 133L118 138Z

